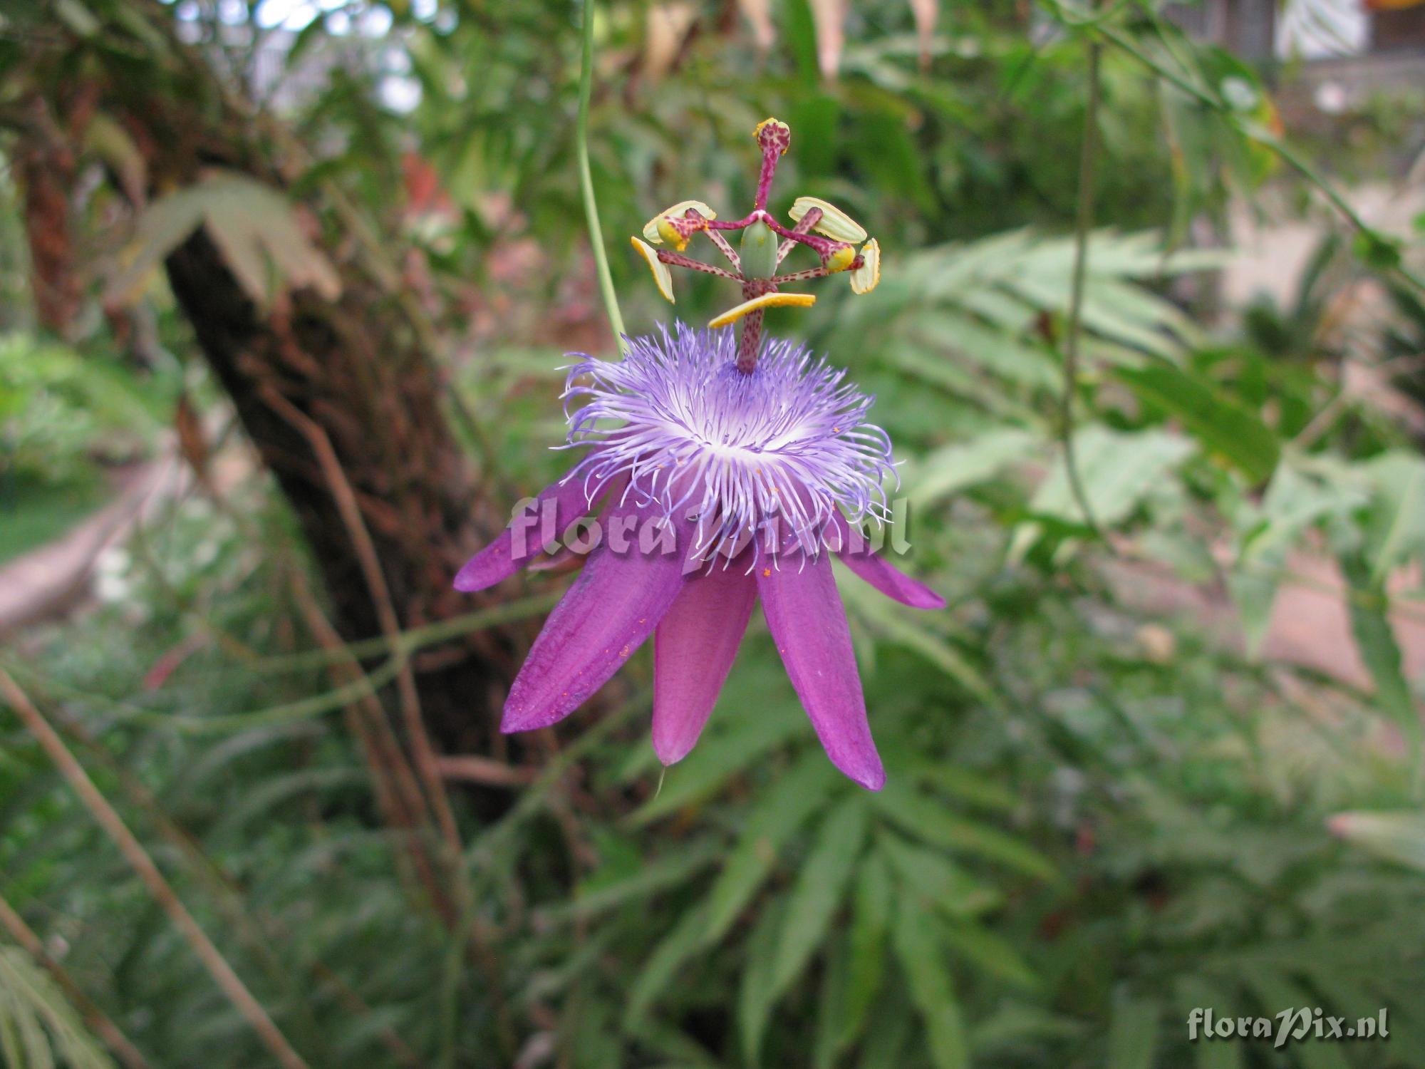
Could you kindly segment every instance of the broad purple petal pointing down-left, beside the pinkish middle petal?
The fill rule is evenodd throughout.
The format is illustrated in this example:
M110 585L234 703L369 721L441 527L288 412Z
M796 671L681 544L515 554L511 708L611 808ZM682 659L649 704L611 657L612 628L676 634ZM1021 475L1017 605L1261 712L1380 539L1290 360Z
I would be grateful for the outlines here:
M637 534L657 523L658 513L631 502L618 505L610 509L606 529L621 517L637 523L627 552L614 552L606 537L590 553L524 659L500 731L549 727L573 713L643 646L683 590L683 552L640 550ZM680 549L691 542L690 529L685 522L674 525Z

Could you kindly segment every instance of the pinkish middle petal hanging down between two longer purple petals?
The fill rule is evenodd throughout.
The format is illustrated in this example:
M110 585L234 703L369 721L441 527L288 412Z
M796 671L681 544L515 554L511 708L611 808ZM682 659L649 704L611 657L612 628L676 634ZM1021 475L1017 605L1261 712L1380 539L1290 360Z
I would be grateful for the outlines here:
M727 567L724 567L727 564ZM720 560L688 580L653 643L653 750L664 764L687 757L737 657L757 601L747 562Z

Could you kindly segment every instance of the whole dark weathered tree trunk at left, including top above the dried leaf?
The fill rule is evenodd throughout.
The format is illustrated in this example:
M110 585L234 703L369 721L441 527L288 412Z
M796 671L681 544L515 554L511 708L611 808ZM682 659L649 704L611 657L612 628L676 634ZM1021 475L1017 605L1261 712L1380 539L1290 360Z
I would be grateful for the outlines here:
M95 63L94 50L78 41L70 51L56 48L31 76L38 93L51 94L48 107L61 114L71 84L57 71L81 70L87 103L137 145L150 195L198 181L205 167L288 188L286 175L302 162L284 157L289 150L274 123L256 121L256 110L235 100L172 37L170 10L125 1L160 27L168 50L150 51L140 68L121 53ZM46 175L28 178L27 197L43 200ZM422 345L430 329L415 318L420 312L399 277L369 267L351 217L319 195L308 207L341 275L339 298L306 288L259 308L204 228L167 257L172 292L301 522L342 637L380 634L383 601L400 627L470 611L476 604L455 593L450 580L500 517L482 506L477 475L447 422L442 375ZM363 572L359 537L342 515L339 487L323 470L314 433L331 443L355 493L389 593L373 589ZM479 634L416 660L425 720L446 748L489 745L494 698L512 674L509 647L499 634Z

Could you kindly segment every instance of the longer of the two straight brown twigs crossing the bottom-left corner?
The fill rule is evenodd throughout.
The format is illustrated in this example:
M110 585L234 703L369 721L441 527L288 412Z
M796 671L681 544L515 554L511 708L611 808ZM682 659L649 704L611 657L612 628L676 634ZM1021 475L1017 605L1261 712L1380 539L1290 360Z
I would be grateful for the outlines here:
M282 1035L282 1031L276 1026L276 1022L268 1015L262 1008L262 1003L256 1001L247 985L228 964L228 959L222 956L222 952L212 944L202 926L194 919L192 914L178 898L177 892L164 878L164 874L158 871L158 865L144 849L142 844L134 837L134 832L128 830L124 820L118 815L108 800L100 792L94 785L94 781L88 778L84 767L74 758L64 741L56 734L54 728L44 718L34 703L30 701L28 696L20 690L10 674L0 668L0 694L4 696L6 701L10 703L16 714L28 728L30 734L34 735L36 741L44 748L50 760L54 761L60 774L68 781L70 787L78 795L84 808L90 811L95 822L104 830L104 832L114 840L124 859L133 867L138 874L138 878L148 888L150 894L158 907L168 915L174 926L180 931L188 945L192 948L194 954L208 969L208 974L227 995L228 1001L237 1008L239 1013L252 1026L252 1031L258 1033L264 1046L272 1052L278 1063L285 1066L285 1069L309 1069L306 1062L302 1059L292 1045Z

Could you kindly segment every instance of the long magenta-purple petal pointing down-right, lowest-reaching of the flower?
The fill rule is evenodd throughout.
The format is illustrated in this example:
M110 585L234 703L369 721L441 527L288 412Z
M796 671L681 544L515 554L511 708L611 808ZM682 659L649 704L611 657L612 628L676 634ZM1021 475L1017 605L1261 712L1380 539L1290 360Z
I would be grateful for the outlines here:
M757 593L797 697L831 763L862 787L879 791L886 774L866 723L866 700L831 557L791 556L778 563L781 569L771 562L758 564Z

